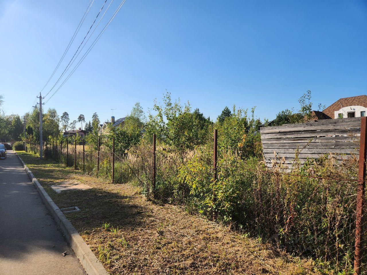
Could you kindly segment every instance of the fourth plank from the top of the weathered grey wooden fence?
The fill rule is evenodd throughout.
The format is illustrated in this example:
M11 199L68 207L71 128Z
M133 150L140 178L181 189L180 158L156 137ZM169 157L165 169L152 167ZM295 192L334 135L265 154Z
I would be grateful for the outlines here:
M359 148L359 142L264 143L262 148Z

